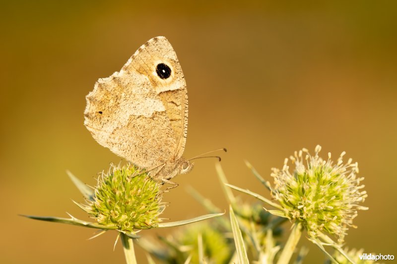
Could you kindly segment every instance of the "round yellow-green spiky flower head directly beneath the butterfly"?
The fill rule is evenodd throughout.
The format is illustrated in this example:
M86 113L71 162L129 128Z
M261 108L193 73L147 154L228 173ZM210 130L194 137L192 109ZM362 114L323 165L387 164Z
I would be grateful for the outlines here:
M98 179L86 211L99 224L122 231L157 227L161 213L160 184L131 164L111 165Z

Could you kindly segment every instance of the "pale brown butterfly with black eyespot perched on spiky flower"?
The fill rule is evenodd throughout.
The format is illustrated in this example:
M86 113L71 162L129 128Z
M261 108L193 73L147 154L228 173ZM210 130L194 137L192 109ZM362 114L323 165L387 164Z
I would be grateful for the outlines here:
M182 156L188 90L165 37L150 39L119 72L99 79L86 100L84 125L100 145L175 187L170 179L192 170L192 159Z

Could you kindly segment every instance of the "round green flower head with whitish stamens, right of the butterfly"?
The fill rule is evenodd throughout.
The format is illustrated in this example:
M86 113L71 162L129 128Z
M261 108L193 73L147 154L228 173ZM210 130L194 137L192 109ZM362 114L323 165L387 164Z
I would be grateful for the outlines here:
M352 220L357 210L368 209L359 205L367 197L366 192L361 191L364 185L360 185L364 178L357 177L357 162L352 163L349 158L343 163L345 152L334 164L331 153L324 160L319 157L320 151L318 145L314 156L306 149L295 152L290 157L295 164L292 172L288 158L281 170L272 168L275 187L271 195L289 218L302 222L311 237L325 230L337 235L342 242L348 227L355 227Z

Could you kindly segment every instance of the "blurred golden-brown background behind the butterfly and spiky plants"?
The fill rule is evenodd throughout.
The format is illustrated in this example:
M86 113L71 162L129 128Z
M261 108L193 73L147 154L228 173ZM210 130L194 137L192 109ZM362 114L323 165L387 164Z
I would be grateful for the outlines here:
M120 158L84 127L84 97L155 36L171 42L188 85L185 157L227 147L229 182L269 197L244 159L271 180L270 168L302 147L320 144L323 157L346 151L370 208L346 245L397 254L396 2L9 1L0 14L0 263L124 262L120 243L113 252L116 232L87 240L95 230L17 214L87 219L70 200L83 201L66 169L93 185ZM214 160L174 180L164 217L206 213L187 186L228 208ZM300 243L310 248L306 263L323 262L304 236Z

